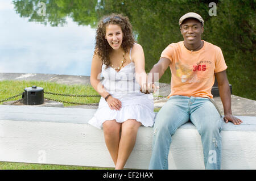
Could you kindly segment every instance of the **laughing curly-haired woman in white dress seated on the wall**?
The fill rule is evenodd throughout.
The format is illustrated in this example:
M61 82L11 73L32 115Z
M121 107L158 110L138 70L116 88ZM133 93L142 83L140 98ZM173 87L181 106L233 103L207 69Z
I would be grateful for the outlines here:
M125 166L138 128L154 124L153 96L140 91L140 87L147 91L146 81L143 49L135 43L129 19L120 14L105 16L98 23L90 76L101 99L89 124L103 127L115 169Z

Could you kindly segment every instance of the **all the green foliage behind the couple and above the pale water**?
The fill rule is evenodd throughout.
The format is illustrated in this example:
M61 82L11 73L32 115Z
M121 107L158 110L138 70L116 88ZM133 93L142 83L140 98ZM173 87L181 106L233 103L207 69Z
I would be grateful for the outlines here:
M97 21L113 12L127 15L145 54L146 71L158 62L168 44L182 41L179 18L197 12L204 21L203 39L222 49L228 65L233 94L256 100L255 93L255 0L56 0L46 2L46 16L38 16L39 0L14 1L21 17L51 26L65 24L67 16L81 25L97 26ZM217 3L217 16L209 15L209 3ZM167 70L160 82L170 83Z

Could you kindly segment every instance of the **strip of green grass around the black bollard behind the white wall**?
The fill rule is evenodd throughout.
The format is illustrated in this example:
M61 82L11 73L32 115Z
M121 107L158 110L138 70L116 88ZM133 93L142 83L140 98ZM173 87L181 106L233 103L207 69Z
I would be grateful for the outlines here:
M44 92L53 92L60 94L76 94L76 95L98 95L92 86L84 85L62 85L55 82L40 82L40 81L0 81L0 100L10 98L16 94L22 93L24 88L31 86L43 87ZM21 96L11 100L18 100ZM70 96L60 96L60 95L51 95L44 94L44 98L51 98L56 100L63 100L68 102L76 103L98 103L100 97L96 98L85 98L85 97L70 97ZM10 101L10 100L8 100ZM2 103L0 103L2 104ZM64 107L75 106L75 104L63 103Z

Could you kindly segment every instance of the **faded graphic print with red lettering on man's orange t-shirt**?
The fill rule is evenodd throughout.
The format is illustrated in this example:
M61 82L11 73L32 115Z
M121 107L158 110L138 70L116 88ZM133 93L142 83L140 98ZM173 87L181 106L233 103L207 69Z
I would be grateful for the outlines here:
M176 76L180 78L182 83L201 82L209 76L209 68L211 61L199 61L193 65L175 63Z

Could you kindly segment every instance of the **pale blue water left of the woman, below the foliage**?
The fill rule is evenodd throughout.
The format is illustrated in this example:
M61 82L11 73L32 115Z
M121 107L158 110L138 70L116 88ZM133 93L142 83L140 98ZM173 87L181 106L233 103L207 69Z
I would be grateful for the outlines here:
M0 0L0 72L90 75L95 28L66 20L63 27L28 22Z

